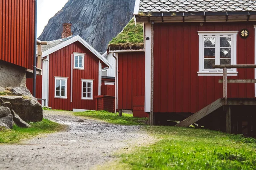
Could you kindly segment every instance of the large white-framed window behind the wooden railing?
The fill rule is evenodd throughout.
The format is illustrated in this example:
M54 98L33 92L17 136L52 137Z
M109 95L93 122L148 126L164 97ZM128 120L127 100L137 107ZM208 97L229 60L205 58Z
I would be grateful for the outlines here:
M236 64L236 36L238 31L198 31L198 76L220 76L223 69L212 65ZM228 75L237 75L236 68L227 69Z

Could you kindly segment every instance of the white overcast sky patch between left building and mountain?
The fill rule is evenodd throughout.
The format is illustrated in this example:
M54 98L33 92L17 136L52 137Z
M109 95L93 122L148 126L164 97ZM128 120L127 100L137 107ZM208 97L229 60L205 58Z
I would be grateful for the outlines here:
M68 0L38 0L37 37L43 32L48 20L53 17Z

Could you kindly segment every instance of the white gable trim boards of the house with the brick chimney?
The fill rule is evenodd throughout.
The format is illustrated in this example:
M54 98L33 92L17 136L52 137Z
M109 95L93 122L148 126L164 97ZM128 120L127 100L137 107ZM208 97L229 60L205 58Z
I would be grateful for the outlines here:
M90 46L86 41L84 41L84 39L82 39L79 35L77 35L73 38L70 38L67 41L62 42L61 44L56 45L55 47L52 47L52 48L48 49L47 51L44 51L42 54L42 57L52 54L53 52L58 51L59 49L64 48L67 45L70 45L76 41L81 42L81 44L84 45L84 47L88 48L88 50L90 50L94 55L96 55L96 57L98 57L100 60L102 60L102 62L104 62L106 65L108 65L108 67L112 68L112 64L107 59L105 59L105 57L103 57L101 54L99 54L99 52L96 51L92 46Z

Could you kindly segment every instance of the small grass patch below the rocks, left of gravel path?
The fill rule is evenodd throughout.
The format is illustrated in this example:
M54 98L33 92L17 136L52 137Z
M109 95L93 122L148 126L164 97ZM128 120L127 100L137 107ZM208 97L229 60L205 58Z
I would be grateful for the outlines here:
M12 130L0 129L0 143L18 143L21 139L31 138L43 133L52 133L65 128L65 125L51 122L48 119L43 119L42 122L31 122L29 124L31 125L29 128L21 128L14 125Z

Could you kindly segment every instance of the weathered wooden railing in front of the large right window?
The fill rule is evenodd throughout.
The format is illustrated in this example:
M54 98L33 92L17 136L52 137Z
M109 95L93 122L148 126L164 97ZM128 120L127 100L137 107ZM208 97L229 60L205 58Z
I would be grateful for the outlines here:
M238 65L213 65L212 68L223 68L223 98L224 105L227 105L227 83L256 83L256 79L227 79L227 68L256 68L254 64L238 64Z

